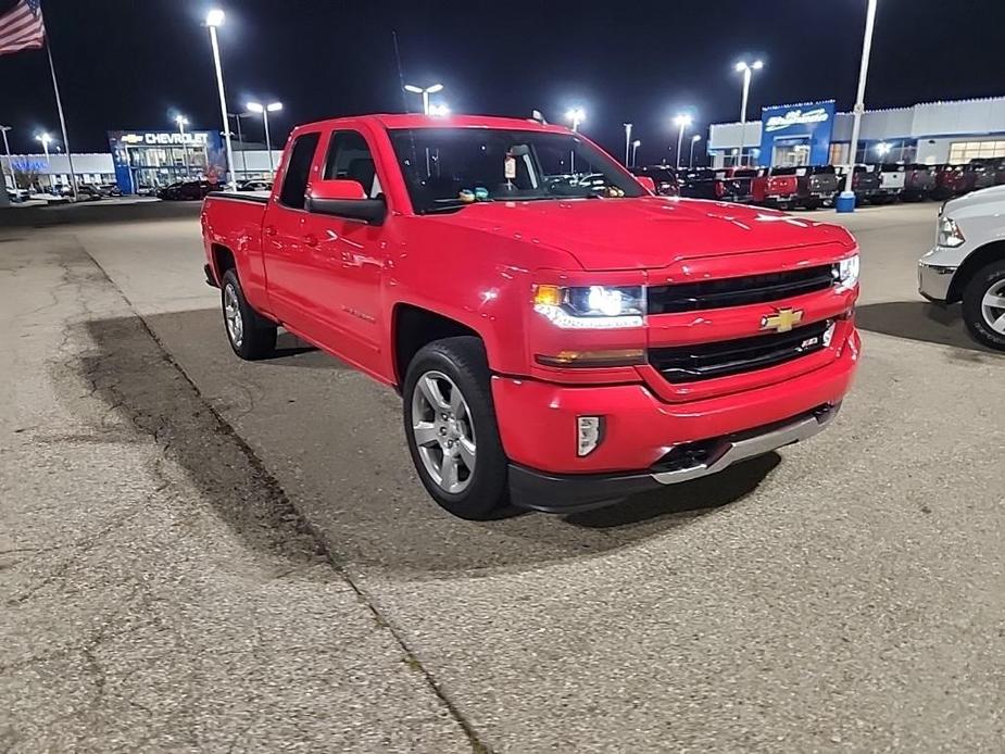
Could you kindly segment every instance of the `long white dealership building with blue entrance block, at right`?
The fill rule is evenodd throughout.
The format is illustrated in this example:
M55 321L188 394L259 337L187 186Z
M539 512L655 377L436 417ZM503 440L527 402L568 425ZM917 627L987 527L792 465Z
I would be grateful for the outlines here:
M729 165L847 164L851 113L833 100L764 108L759 121L709 127L708 155ZM1005 97L867 110L855 162L964 164L1005 158Z

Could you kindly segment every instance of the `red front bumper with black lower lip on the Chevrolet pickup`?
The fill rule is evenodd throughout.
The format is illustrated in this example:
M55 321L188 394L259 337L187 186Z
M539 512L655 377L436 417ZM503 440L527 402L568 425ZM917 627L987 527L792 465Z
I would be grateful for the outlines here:
M731 391L676 402L661 398L646 384L571 386L493 377L500 436L514 464L514 502L539 510L568 510L581 499L587 503L617 500L651 488L651 477L657 473L653 469L669 470L663 467L668 460L680 451L690 457L699 444L709 468L696 476L713 474L721 463L708 461L709 443L731 442L752 428L840 404L854 377L860 348L858 334L850 327L834 355L809 372L750 388L739 387L742 375L723 378L732 380ZM603 416L605 423L602 442L582 457L576 452L578 416ZM736 461L737 452L729 454L728 463ZM541 478L550 488L543 495ZM681 475L675 474L674 480L682 480ZM555 492L558 482L569 492ZM555 502L549 502L549 495Z

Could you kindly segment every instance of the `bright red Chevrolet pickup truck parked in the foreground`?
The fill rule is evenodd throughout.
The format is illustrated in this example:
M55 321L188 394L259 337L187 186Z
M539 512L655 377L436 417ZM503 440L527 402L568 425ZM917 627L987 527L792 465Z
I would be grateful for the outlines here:
M301 126L272 192L211 194L202 229L235 353L269 356L281 326L395 388L419 479L466 518L806 439L858 361L844 229L653 196L532 121Z

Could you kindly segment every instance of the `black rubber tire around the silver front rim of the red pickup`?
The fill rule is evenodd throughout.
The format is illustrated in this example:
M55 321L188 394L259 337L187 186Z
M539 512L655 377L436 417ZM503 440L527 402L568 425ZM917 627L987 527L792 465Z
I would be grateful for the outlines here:
M470 435L476 445L475 468L467 477L466 487L460 492L448 491L432 477L419 453L414 431L416 386L431 374L444 375L460 388L470 414ZM462 336L437 340L420 349L409 364L402 387L405 438L418 478L443 508L469 520L498 518L508 510L510 503L508 460L499 438L490 379L481 340ZM418 420L424 419L419 417ZM430 445L427 445L426 450L429 449ZM431 450L434 454L439 452L442 455L435 443Z

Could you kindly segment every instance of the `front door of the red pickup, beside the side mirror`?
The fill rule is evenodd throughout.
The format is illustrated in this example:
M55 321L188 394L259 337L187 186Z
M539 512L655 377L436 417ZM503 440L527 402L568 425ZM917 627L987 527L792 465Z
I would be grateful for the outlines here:
M370 199L384 194L373 151L357 130L330 134L318 177L355 180ZM380 285L388 257L385 228L306 213L303 238L310 267L305 296L326 326L319 343L365 370L378 372L387 330Z

